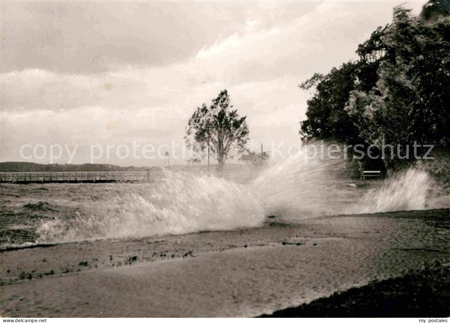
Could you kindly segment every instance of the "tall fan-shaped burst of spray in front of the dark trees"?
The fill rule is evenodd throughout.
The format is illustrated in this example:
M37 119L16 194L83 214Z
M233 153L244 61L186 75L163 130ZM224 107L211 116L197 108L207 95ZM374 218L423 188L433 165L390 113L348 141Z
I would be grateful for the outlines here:
M351 162L343 145L309 145L261 173L252 183L253 191L266 214L279 218L339 214L361 196L348 174Z

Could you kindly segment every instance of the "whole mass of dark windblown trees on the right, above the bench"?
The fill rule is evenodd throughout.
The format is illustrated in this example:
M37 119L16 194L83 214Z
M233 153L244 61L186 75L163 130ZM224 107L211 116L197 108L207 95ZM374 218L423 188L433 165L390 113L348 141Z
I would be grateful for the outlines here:
M437 5L430 1L419 17L396 7L393 22L359 45L357 61L302 83L315 89L303 138L448 147L450 20Z

